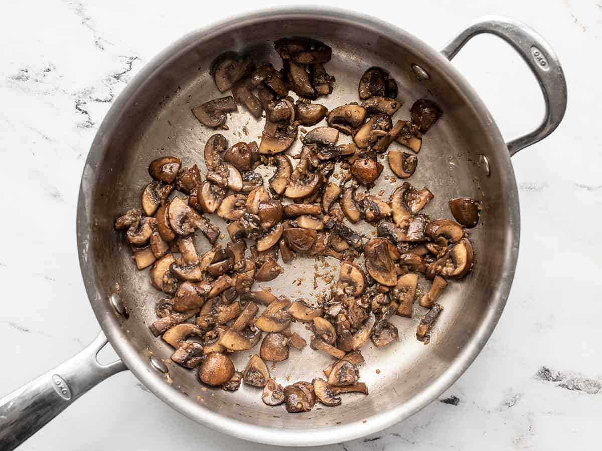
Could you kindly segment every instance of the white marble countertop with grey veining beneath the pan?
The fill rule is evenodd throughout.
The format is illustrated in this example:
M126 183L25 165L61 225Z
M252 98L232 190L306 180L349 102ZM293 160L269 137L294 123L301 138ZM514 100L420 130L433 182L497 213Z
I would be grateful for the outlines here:
M75 211L85 156L115 96L182 34L271 2L204 3L48 0L2 8L0 395L69 358L99 331L80 277ZM602 2L483 0L468 7L432 0L402 7L350 0L345 6L394 19L435 48L478 16L523 20L559 55L569 105L551 137L512 159L520 186L520 257L506 310L485 349L441 402L371 437L329 449L594 446L602 424L602 257L596 247L602 221ZM541 94L509 46L479 37L454 64L504 137L539 123ZM444 401L455 397L457 405ZM129 372L103 382L22 446L267 448L191 422Z

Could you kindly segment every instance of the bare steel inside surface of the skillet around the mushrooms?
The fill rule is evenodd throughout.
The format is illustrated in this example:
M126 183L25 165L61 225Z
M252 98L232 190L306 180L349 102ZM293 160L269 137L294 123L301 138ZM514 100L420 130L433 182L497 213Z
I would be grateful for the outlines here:
M93 175L87 177L84 173L82 182L82 189L87 191L84 230L89 234L84 244L82 268L84 278L88 274L93 280L92 284L86 281L88 290L92 286L95 293L91 296L93 307L105 330L109 329L114 345L118 337L125 339L116 345L117 350L122 351L120 354L140 356L140 359L126 358L138 377L155 393L165 393L163 388L157 387L167 386L173 391L172 404L184 406L181 410L197 420L203 421L207 418L206 412L211 411L249 425L315 431L362 422L391 410L397 410L400 416L407 415L437 396L438 393L425 394L426 387L446 374L461 373L470 364L501 313L514 271L511 260L515 258L518 242L512 242L517 239L512 223L517 221L518 206L512 198L515 188L507 188L509 184L514 185L514 178L511 172L505 171L508 158L500 152L497 127L485 109L468 102L472 94L462 91L450 76L449 68L442 70L442 61L429 57L424 44L403 33L388 31L386 27L358 25L335 17L300 16L240 22L224 25L221 31L213 29L188 36L181 46L172 48L172 54L164 53L160 57L163 60L155 60L154 67L144 69L132 81L133 86L127 91L129 99L114 106L99 132L93 146L99 157L87 168L88 175ZM474 271L445 289L441 298L444 311L430 344L425 346L415 339L417 322L424 310L415 306L412 319L395 316L392 322L399 328L399 342L382 349L368 342L362 348L366 362L360 369L361 381L368 385L370 396L346 394L341 407L327 408L318 404L321 408L294 415L287 414L282 406L265 406L261 391L249 385L243 384L232 394L220 388L203 387L193 371L177 364L168 365L169 378L150 369L149 354L169 360L173 352L167 343L152 336L147 327L157 319L155 304L163 295L151 287L147 270L135 270L123 235L113 230L115 216L140 207L141 190L151 180L148 165L158 156L178 156L184 166L197 164L202 173L205 172L202 152L206 140L215 131L202 126L190 109L223 95L209 75L211 61L222 52L235 50L258 62L270 61L279 69L281 61L273 50L273 41L292 35L316 38L332 47L332 60L326 69L337 79L335 90L316 101L329 109L359 101L358 81L370 66L388 70L399 85L398 99L403 100L404 105L394 120L409 118L409 107L420 97L439 103L444 114L424 138L417 171L408 181L419 188L427 186L435 194L424 210L432 218L451 218L447 203L453 197L472 197L483 203L480 224L469 231L476 256ZM411 70L414 63L430 74L430 80L417 78ZM253 119L242 106L239 111L228 118L229 130L219 132L230 144L259 140L264 119ZM341 135L341 141L346 140L350 138ZM397 147L401 148L394 143L391 149ZM290 153L298 150L299 142ZM489 177L479 164L480 154L489 158ZM391 173L386 159L382 163L385 170L371 191L383 191L388 197L401 182L386 180ZM86 186L87 180L94 180L94 185ZM222 224L217 217L212 221ZM225 232L225 228L223 230ZM221 242L227 241L225 238ZM199 252L208 250L202 235L196 242ZM330 268L321 267L320 272L330 271L336 275L339 262L326 261ZM324 278L317 278L314 288L314 263L302 257L291 265L282 263L285 273L265 285L293 299L311 298L327 288ZM511 272L504 269L509 265ZM114 314L107 302L117 284L129 312L127 320ZM421 279L420 286L427 289L429 284ZM309 339L303 325L295 327ZM249 355L256 352L258 349L235 354L237 369L242 370ZM462 353L468 354L460 358ZM326 355L307 346L303 352L291 349L290 358L270 367L270 371L282 385L311 381L323 377L321 369L330 361ZM447 383L450 382L448 378Z

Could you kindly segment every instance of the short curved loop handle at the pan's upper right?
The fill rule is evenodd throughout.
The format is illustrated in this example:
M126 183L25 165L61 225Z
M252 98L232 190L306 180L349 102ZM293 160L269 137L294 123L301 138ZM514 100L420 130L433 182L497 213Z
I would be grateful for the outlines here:
M507 143L510 156L543 140L556 129L566 110L566 80L554 51L535 30L517 20L486 16L477 19L453 38L441 51L448 60L458 54L471 38L481 33L494 34L518 52L539 82L545 100L544 120L533 132Z

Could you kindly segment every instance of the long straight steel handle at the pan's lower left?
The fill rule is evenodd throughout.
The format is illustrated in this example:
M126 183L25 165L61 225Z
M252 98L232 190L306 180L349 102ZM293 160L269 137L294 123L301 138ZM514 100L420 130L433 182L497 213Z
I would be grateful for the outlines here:
M109 376L126 370L121 360L101 365L104 333L81 352L29 384L0 399L0 449L12 450Z

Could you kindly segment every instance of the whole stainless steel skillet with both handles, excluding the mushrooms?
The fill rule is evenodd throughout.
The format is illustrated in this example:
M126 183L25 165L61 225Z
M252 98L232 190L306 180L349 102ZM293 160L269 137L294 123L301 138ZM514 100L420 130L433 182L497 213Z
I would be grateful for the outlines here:
M479 33L495 34L512 45L544 94L541 125L509 143L504 143L491 114L449 63ZM147 328L155 319L160 295L149 285L146 272L134 271L125 243L113 230L118 213L138 206L146 168L157 156L176 155L185 164L194 162L202 168L202 149L212 131L197 123L190 108L217 96L208 74L211 61L234 49L279 67L272 43L291 35L312 37L332 47L327 69L337 78L337 87L323 102L329 108L358 100L358 80L369 66L384 67L397 80L399 98L406 105L396 118L407 118L415 99L436 100L444 115L425 138L410 182L435 193L427 210L435 217L449 216L447 200L452 197L474 197L483 203L480 225L470 233L474 271L445 293L444 314L432 342L424 346L414 339L418 315L394 319L399 342L378 352L369 346L362 349L367 360L362 380L370 387L370 396L348 395L343 407L295 415L265 406L253 387L235 394L207 390L193 372L165 363L170 349ZM520 232L510 155L549 135L565 107L566 84L554 52L532 29L500 17L477 20L441 52L388 23L315 7L237 17L185 36L148 63L116 100L98 130L82 175L79 258L88 298L104 333L80 354L0 400L0 448L13 449L85 391L125 369L202 425L281 446L352 440L420 410L467 369L500 318L514 276ZM234 114L226 137L243 140L235 135L243 126L251 140L260 134L262 121ZM394 185L383 176L374 191L388 194ZM202 238L198 245L199 250L208 248ZM303 277L311 281L312 264L297 259L273 281L273 289L291 297L311 295L312 283L297 286L293 281ZM121 358L108 366L96 360L107 342L105 335ZM310 352L291 352L273 374L280 381L286 377L311 381L327 359L315 352L310 357ZM244 355L235 358L237 367L248 358L247 353L240 354Z

